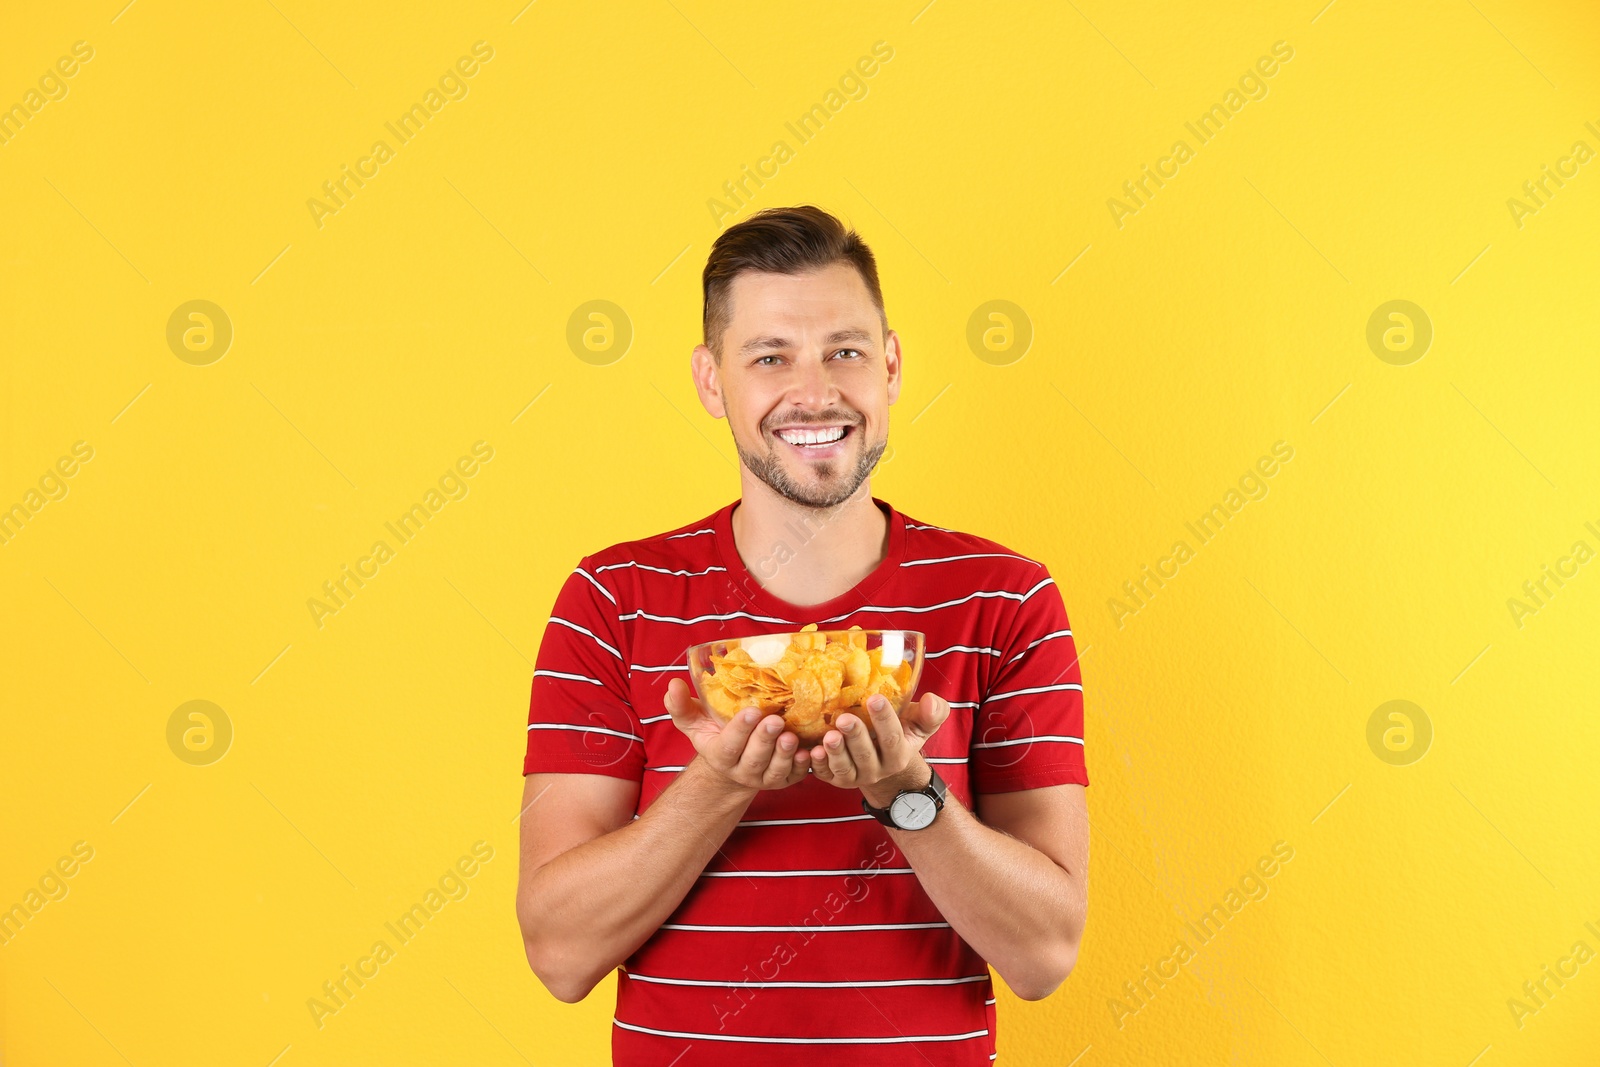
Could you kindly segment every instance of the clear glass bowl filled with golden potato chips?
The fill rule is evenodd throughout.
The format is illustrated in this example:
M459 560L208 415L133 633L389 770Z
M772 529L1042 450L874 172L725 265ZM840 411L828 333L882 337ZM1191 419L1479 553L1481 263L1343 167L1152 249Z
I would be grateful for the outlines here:
M723 721L747 707L778 713L802 744L818 744L850 712L872 726L867 697L882 694L898 715L922 678L918 630L819 630L704 641L688 649L694 694Z

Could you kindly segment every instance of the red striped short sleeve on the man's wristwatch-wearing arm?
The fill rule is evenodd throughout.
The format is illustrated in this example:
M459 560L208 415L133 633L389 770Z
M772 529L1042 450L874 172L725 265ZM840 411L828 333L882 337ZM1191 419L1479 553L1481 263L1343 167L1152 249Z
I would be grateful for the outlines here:
M1088 785L1078 649L1048 568L1032 573L997 646L1000 662L973 717L973 792Z

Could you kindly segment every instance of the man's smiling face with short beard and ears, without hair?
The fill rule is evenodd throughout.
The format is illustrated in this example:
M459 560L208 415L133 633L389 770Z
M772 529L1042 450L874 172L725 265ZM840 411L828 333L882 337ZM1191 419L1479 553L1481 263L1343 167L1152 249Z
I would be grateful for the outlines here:
M701 403L728 419L739 459L779 496L806 507L848 501L888 445L899 338L883 336L850 264L746 272L730 293L722 366L706 346L694 349Z

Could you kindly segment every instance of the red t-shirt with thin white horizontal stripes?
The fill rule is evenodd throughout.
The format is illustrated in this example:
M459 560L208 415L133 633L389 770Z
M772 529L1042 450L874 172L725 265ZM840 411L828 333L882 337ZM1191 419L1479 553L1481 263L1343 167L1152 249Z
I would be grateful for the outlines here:
M888 555L850 592L805 608L746 568L738 501L584 557L539 645L523 774L635 781L643 813L696 755L662 702L672 677L688 680L688 646L816 622L926 635L914 696L938 693L950 717L923 755L968 808L974 792L1088 785L1077 649L1050 571L872 499L890 520ZM798 523L794 533L794 544L808 536ZM755 569L771 574L781 558ZM861 811L861 792L808 776L755 795L618 969L611 1051L650 1067L986 1065L994 1003L987 965Z

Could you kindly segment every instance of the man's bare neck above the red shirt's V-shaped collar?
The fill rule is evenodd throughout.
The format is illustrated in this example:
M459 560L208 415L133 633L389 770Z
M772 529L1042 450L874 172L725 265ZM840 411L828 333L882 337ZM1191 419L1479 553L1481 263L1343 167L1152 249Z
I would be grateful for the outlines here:
M854 589L888 555L888 517L872 502L872 483L837 507L803 507L746 475L733 509L733 541L762 589L797 606Z

